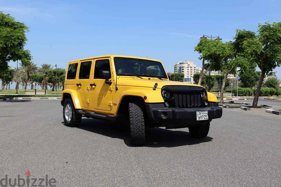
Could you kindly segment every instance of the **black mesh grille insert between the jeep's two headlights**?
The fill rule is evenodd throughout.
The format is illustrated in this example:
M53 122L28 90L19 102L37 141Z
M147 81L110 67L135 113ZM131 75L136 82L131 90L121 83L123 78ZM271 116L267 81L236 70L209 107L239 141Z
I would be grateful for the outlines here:
M200 107L203 100L200 97L200 93L177 92L174 93L172 102L174 102L175 107L192 108Z

